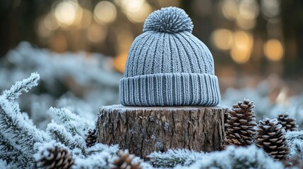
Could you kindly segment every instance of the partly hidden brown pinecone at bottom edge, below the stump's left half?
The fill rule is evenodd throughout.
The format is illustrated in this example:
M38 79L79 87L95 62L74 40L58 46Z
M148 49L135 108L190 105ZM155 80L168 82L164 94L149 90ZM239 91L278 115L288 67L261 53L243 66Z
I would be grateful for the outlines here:
M119 151L118 157L114 160L114 167L112 169L142 169L140 162L131 163L135 156L129 154L129 151Z

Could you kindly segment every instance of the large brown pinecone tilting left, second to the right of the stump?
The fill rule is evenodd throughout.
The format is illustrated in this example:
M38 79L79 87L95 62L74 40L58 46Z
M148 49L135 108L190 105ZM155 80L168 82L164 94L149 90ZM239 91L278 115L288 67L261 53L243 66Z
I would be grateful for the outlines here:
M267 154L277 160L284 160L289 154L285 130L276 119L266 118L260 121L255 143L256 146L262 147Z

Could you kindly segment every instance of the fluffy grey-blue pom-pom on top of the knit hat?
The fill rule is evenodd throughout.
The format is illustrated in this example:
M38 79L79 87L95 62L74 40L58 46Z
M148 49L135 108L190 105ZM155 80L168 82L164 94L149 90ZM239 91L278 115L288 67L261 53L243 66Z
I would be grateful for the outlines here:
M189 15L181 8L168 7L150 13L145 20L143 32L154 30L158 32L177 33L193 30Z

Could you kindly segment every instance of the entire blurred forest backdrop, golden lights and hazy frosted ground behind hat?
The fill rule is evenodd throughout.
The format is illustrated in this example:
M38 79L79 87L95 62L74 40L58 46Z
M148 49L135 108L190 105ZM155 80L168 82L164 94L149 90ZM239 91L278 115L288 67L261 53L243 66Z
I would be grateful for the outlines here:
M246 97L259 118L288 112L303 124L301 0L0 0L0 90L37 71L40 85L20 106L38 127L50 106L94 120L118 103L145 18L166 6L183 8L212 52L221 104Z

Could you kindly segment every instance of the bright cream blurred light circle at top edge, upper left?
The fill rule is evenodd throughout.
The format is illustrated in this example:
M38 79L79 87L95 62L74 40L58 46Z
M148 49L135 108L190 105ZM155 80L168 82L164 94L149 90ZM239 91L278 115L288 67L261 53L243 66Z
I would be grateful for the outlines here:
M76 20L78 4L74 1L60 2L54 11L54 15L61 26L72 25Z

